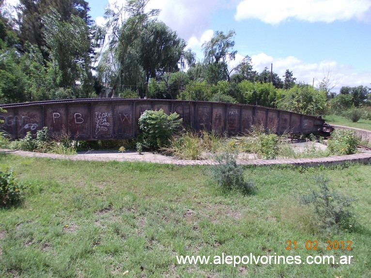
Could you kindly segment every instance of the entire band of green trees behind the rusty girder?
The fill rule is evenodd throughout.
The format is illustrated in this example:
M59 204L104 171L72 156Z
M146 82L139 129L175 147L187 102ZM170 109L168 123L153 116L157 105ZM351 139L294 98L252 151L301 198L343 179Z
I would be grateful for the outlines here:
M256 71L248 55L235 66L233 30L214 32L196 58L148 2L110 3L101 27L86 0L19 0L17 19L0 0L0 103L107 96L105 90L109 97L238 102L304 114L370 103L365 86L331 92L337 83L330 70L313 88L289 69L281 77L268 67Z

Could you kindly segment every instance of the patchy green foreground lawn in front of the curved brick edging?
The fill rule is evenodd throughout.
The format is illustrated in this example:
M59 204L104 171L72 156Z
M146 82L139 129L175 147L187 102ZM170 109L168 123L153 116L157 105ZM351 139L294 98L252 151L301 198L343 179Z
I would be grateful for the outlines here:
M0 277L371 277L371 166L246 168L254 195L223 192L204 167L0 155L22 206L0 210ZM299 205L324 175L354 204L353 232L326 234ZM68 226L67 226L68 225ZM297 250L286 250L287 241ZM307 250L318 240L320 250ZM325 250L351 240L353 250ZM293 246L292 246L293 247ZM303 249L301 249L304 247ZM324 248L324 250L321 250ZM340 255L350 265L178 265L176 255Z

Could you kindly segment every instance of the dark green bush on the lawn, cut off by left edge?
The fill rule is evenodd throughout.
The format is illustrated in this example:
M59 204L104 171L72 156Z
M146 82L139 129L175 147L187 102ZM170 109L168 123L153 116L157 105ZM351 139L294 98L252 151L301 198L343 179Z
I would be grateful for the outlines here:
M0 170L0 206L19 203L22 189L23 186L17 185L13 171Z

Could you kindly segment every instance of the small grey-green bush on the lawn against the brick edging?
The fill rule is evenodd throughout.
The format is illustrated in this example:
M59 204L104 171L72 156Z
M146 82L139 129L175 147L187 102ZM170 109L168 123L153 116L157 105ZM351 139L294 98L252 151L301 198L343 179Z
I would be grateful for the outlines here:
M210 168L210 176L216 185L223 189L239 190L246 194L253 193L255 184L245 180L244 168L237 164L237 152L225 152L216 154L215 160L218 165Z

